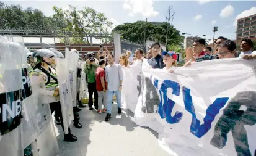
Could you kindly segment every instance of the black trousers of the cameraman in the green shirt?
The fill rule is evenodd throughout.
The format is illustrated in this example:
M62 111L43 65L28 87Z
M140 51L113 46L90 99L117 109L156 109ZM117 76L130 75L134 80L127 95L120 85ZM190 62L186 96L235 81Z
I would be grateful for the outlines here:
M96 89L96 83L88 83L88 92L89 92L89 100L88 105L89 107L92 107L92 104L94 103L94 107L98 107L98 92ZM92 98L92 95L94 94L94 99Z

